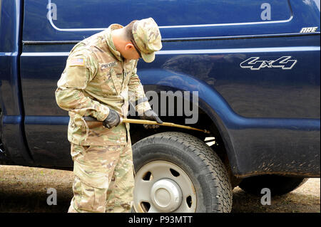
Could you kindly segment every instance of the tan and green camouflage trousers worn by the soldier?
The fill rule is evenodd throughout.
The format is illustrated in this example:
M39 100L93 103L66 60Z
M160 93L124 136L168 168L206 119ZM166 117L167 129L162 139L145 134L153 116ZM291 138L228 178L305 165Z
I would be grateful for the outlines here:
M71 143L73 212L130 212L133 206L133 154L126 145L80 146Z

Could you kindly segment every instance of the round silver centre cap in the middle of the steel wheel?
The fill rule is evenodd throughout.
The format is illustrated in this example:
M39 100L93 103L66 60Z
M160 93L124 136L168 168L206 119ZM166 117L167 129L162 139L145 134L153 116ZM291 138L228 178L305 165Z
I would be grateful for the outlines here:
M172 212L182 202L180 186L171 179L161 179L151 188L151 200L158 210Z

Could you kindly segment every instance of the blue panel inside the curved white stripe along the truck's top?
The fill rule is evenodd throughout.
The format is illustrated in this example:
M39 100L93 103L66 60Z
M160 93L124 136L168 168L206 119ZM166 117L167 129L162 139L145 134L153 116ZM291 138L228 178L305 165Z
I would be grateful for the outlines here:
M291 16L287 0L121 0L99 4L97 1L70 0L66 4L63 0L51 0L51 4L51 9L56 10L53 22L58 28L106 28L110 23L126 25L130 22L128 19L148 17L159 21L159 26L182 26L282 21Z

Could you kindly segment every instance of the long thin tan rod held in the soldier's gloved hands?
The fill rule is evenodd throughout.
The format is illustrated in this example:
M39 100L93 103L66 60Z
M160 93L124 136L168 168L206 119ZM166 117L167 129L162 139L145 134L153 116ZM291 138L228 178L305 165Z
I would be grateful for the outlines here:
M96 120L96 118L94 118L94 117L84 117L84 119L87 122L98 122L98 120ZM207 134L210 134L210 132L208 130L200 130L195 127L190 127L190 126L186 126L186 125L177 125L177 124L174 124L171 122L163 122L163 124L160 124L160 123L153 121L153 120L138 120L138 119L123 118L123 117L121 117L121 122L130 123L130 124L141 124L141 125L162 125L162 126L168 126L168 127L180 127L180 128L186 129L186 130L197 130L200 132L205 132Z

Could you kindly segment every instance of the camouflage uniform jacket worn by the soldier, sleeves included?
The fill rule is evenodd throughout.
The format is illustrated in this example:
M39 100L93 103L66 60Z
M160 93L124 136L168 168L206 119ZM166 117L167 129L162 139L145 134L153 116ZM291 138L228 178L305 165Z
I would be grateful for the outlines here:
M68 140L74 144L104 146L126 144L129 139L128 123L108 130L100 122L83 120L83 116L92 116L103 121L110 108L126 118L128 101L136 102L145 97L136 74L138 60L123 59L111 38L111 31L122 27L112 24L105 31L77 43L58 80L56 102L63 110L68 110ZM138 114L149 109L148 101L136 105Z

